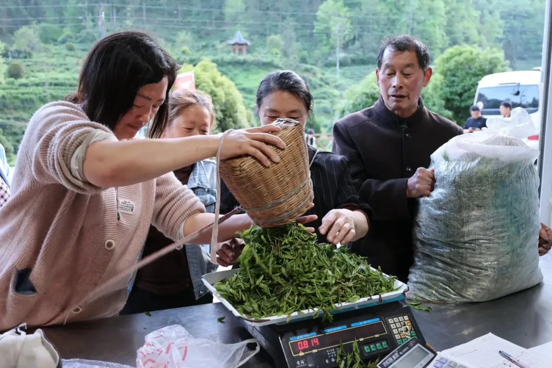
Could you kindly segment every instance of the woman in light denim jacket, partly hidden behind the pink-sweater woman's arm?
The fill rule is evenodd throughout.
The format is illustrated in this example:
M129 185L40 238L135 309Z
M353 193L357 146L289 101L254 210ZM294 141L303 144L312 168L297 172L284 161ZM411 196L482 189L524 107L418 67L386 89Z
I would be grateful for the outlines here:
M192 90L173 92L169 108L169 123L163 137L208 135L213 130L215 112L208 94ZM203 202L206 212L215 212L215 174L216 163L209 160L174 171ZM151 226L142 257L172 243ZM209 257L209 245L189 244L175 250L138 270L121 314L211 303L213 296L201 282L201 276L216 267Z

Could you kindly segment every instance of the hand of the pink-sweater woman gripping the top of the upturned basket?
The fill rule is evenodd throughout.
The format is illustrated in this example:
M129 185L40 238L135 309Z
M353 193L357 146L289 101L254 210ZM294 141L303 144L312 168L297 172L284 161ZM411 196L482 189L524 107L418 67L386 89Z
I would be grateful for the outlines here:
M228 159L241 154L249 154L257 158L264 166L270 166L270 161L280 162L280 158L268 145L285 148L285 143L277 136L269 133L277 132L278 126L268 124L248 129L238 129L229 132L222 142L221 159Z

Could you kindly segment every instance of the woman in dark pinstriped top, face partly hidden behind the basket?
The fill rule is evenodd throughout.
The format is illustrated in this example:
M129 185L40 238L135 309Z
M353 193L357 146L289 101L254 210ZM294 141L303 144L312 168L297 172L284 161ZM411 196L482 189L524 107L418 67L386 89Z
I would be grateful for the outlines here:
M312 111L313 98L309 87L293 71L276 70L263 78L257 90L256 107L261 125L279 118L290 118L305 124ZM305 215L316 215L314 227L320 243L347 244L368 232L370 208L361 204L347 169L347 161L338 154L318 152L309 146L309 162L314 207ZM221 182L221 214L240 204ZM224 244L218 262L227 266L240 253L238 242Z

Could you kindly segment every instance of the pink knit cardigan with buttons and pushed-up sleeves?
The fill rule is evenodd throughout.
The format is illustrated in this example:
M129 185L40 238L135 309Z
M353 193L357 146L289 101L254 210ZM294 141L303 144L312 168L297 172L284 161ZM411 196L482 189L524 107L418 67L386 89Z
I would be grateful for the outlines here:
M137 262L151 223L176 239L184 219L205 210L173 173L118 190L76 179L71 157L98 130L111 133L68 102L43 106L29 122L0 209L0 331L113 316L130 280L71 307Z

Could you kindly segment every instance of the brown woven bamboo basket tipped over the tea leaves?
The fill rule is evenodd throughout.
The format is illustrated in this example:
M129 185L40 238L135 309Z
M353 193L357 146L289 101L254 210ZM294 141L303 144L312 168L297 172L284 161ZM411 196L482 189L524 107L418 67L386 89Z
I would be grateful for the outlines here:
M274 135L286 145L272 146L279 163L263 166L252 156L240 156L220 163L220 176L254 223L262 227L284 225L309 210L314 193L309 170L309 153L304 127L299 121L278 119Z

